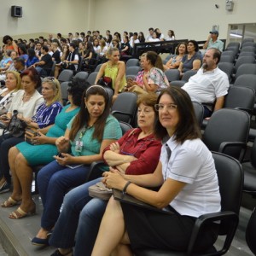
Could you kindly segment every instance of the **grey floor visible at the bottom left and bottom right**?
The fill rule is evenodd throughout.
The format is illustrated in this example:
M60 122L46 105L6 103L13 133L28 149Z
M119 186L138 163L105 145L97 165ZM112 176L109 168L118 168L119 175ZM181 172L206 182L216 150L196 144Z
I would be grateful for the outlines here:
M9 197L9 193L0 195L0 202L3 202ZM35 247L31 244L31 239L36 235L40 226L40 216L43 211L43 206L38 198L34 196L37 203L37 214L28 218L10 219L9 212L15 208L0 207L0 242L9 256L49 256L54 252L53 247ZM253 206L256 206L256 199L248 195L243 196L243 207L241 207L240 224L236 231L236 236L230 247L227 256L252 256L245 241L245 230L248 218L252 212ZM220 244L218 241L217 244ZM2 255L2 254L0 254ZM82 256L82 255L81 255Z

